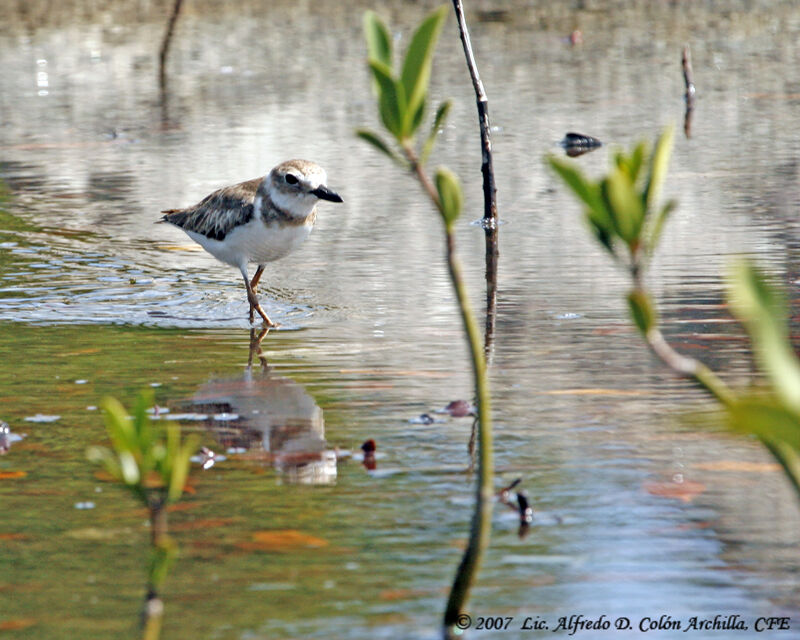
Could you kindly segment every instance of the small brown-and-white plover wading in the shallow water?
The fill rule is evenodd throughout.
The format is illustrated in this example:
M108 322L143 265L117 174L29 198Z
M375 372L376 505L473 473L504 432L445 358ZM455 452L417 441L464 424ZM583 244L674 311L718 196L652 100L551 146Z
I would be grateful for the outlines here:
M297 248L311 233L319 200L342 202L326 186L325 171L307 160L282 162L263 178L224 187L193 207L162 211L159 222L183 229L218 260L238 267L247 288L250 320L257 311L273 326L256 297L264 265ZM258 265L253 280L247 265Z

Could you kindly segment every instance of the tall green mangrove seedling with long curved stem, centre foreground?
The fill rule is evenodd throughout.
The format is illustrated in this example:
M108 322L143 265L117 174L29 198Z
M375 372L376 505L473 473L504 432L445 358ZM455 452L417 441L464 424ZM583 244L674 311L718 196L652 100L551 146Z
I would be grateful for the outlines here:
M450 110L449 101L439 105L425 139L421 143L417 141L417 133L424 121L428 102L433 51L446 18L447 7L442 6L422 21L411 38L398 73L394 69L389 29L374 12L365 13L364 33L369 53L368 64L377 97L378 113L393 142L389 144L377 133L366 129L358 130L357 135L410 171L439 212L445 233L445 259L469 347L478 412L478 481L469 541L456 571L445 609L443 633L446 638L450 638L461 633L456 621L464 613L483 552L489 543L494 490L486 360L478 325L467 297L461 263L455 252L453 229L461 214L464 197L460 182L452 171L439 167L431 178L425 168L436 135Z

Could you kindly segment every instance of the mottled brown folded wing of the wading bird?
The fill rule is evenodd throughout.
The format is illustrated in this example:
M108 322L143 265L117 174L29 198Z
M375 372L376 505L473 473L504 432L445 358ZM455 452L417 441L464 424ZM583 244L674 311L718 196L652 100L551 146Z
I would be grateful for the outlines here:
M167 209L159 222L169 222L184 231L224 240L235 227L253 217L253 200L263 178L224 187L203 198L193 207Z

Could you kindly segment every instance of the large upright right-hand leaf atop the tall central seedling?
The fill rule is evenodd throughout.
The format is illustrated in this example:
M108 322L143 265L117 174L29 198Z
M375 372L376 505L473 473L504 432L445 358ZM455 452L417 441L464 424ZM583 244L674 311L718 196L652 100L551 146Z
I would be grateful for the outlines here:
M407 136L414 132L413 124L417 119L417 112L428 94L433 50L447 19L447 13L447 5L442 5L428 14L412 36L411 44L408 46L408 52L403 62L403 71L400 75L405 95L408 98L408 112L403 128L403 133Z

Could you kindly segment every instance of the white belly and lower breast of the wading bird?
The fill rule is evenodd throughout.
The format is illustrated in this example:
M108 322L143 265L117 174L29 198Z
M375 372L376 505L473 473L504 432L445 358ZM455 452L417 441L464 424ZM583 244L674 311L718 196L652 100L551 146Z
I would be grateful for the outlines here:
M253 218L231 231L224 240L213 240L193 231L186 233L217 260L242 268L250 262L265 264L291 253L303 244L311 229L311 224L273 222L267 226L260 218Z

